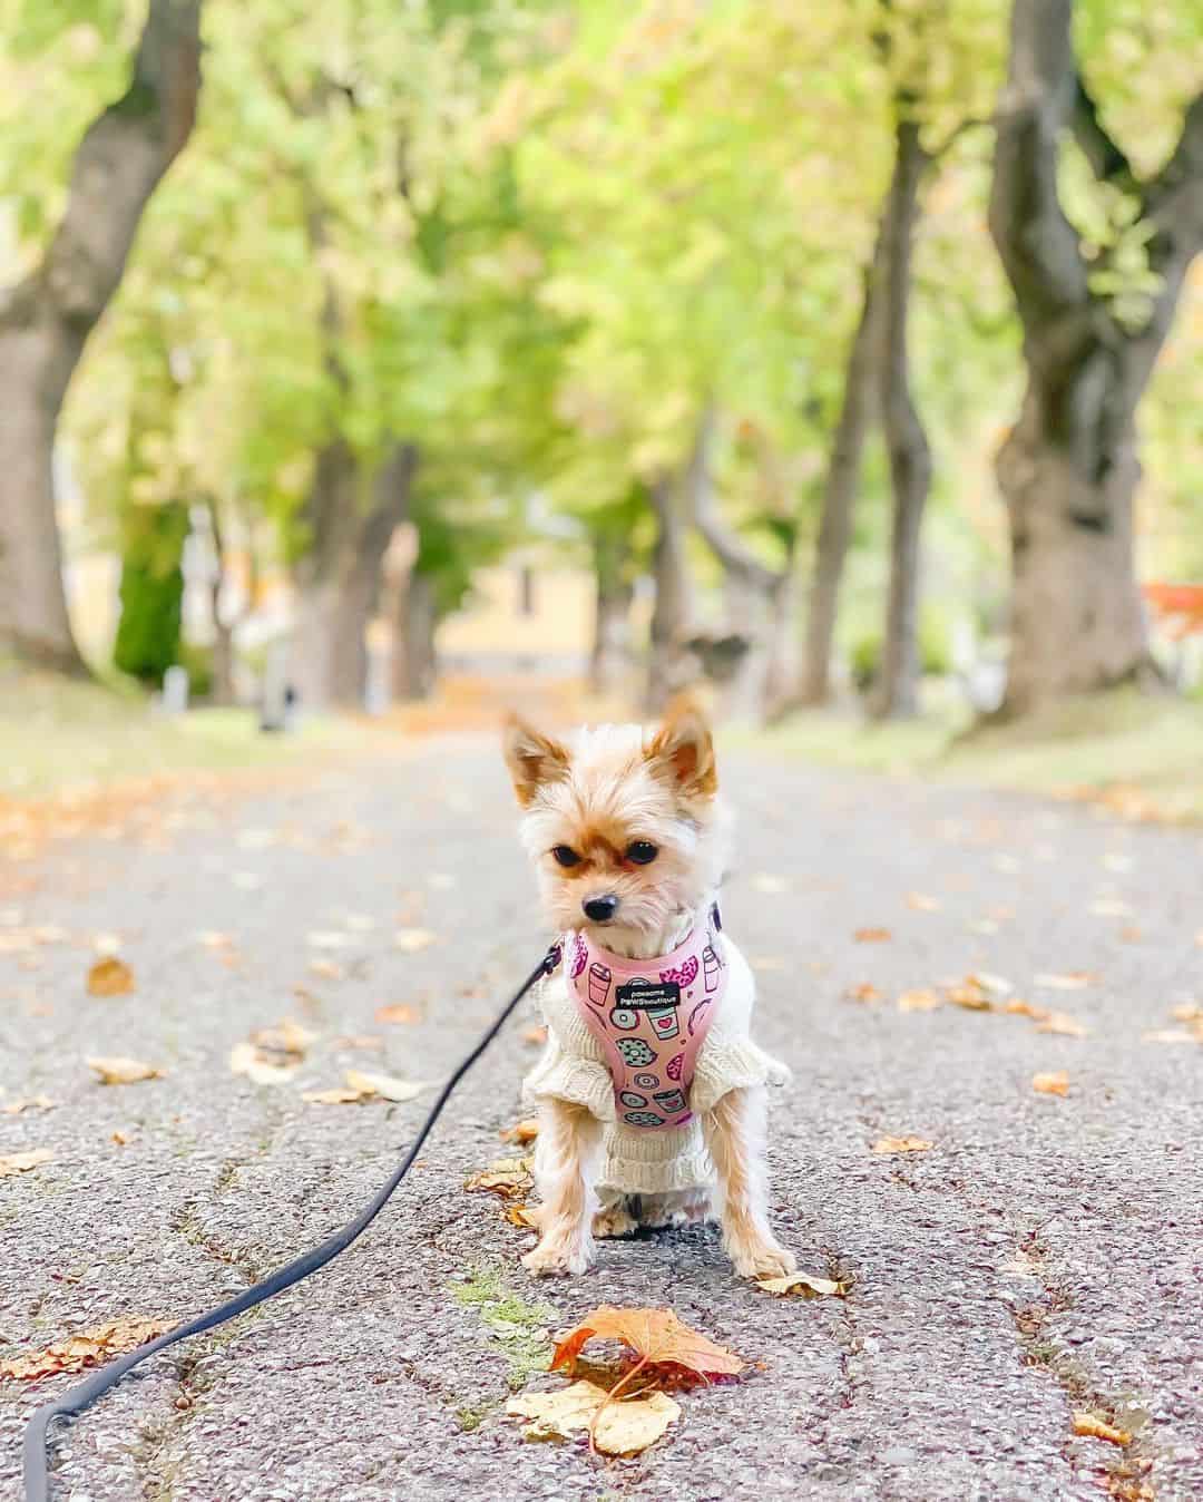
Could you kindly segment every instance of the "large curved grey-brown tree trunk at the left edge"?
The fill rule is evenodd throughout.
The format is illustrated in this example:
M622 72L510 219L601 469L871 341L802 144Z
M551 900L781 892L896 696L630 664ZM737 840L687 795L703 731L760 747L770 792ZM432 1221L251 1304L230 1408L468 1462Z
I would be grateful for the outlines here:
M92 329L143 209L192 129L200 0L152 0L126 93L89 126L42 264L0 297L0 643L84 671L71 629L51 457Z

